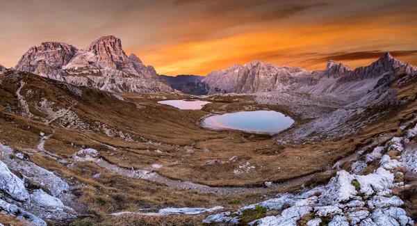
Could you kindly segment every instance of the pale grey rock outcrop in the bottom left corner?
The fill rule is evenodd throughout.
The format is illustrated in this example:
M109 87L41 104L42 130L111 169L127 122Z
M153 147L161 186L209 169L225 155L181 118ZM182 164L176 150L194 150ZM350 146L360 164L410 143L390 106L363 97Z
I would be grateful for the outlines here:
M76 212L63 204L68 184L32 163L27 154L0 143L0 210L25 225L46 226L43 219L74 218Z

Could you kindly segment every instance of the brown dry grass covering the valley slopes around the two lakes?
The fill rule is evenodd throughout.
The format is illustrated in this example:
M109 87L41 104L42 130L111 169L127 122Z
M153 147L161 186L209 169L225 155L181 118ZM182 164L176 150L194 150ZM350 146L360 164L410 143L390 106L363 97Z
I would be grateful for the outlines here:
M40 140L40 131L51 134L54 128L55 133L49 140L46 140L45 148L63 158L69 158L83 147L92 147L99 150L100 154L111 163L124 168L152 170L152 164L158 163L163 165L163 168L156 170L161 175L213 186L261 186L263 181L285 181L312 172L321 172L332 166L338 159L349 156L359 147L367 145L369 138L397 131L401 122L409 120L409 115L417 112L417 103L407 101L404 106L395 109L375 124L361 129L355 135L345 136L332 142L278 146L274 138L270 136L254 135L252 137L238 131L208 131L199 127L199 120L210 113L240 111L247 106L286 113L282 108L255 104L250 96L217 95L213 99L214 102L204 106L202 110L188 111L157 102L164 97L190 99L192 98L190 96L172 93L123 94L122 97L129 102L120 102L106 92L90 88L83 88L84 95L78 97L63 90L60 83L38 76L28 75L25 81L27 85L22 89L22 94L31 89L35 93L31 98L36 99L37 102L44 97L56 102L56 106L65 108L71 105L70 102L76 101L78 104L72 110L86 124L95 122L107 124L113 129L129 134L136 141L127 141L118 136L109 137L100 132L87 133L58 127L57 122L54 122L52 127L48 127L40 122L6 113L6 109L1 107L1 143L11 145L18 150L35 149ZM10 106L15 111L19 110L14 96L17 85L17 83L8 83L4 80L0 87L1 105ZM411 95L414 95L416 91L417 88L414 86L398 88L399 97L403 99L413 99ZM138 108L133 102L142 107ZM375 108L369 111L378 112L382 109ZM291 113L286 114L291 115ZM38 115L41 114L38 113ZM297 120L297 123L303 122ZM147 142L149 140L154 142ZM111 150L100 143L116 147L117 150ZM160 150L162 153L155 152L155 150ZM395 156L396 153L392 154ZM237 156L236 161L229 160L234 156ZM252 194L224 197L193 191L178 191L161 184L122 177L90 162L75 163L70 167L40 154L32 154L30 157L39 166L58 172L71 184L84 184L85 186L76 191L79 195L78 200L88 205L92 211L95 216L91 219L92 222L101 225L174 225L177 223L193 225L193 223L201 222L201 219L182 216L181 219L186 221L181 222L178 216L109 218L106 213L137 211L140 208L156 210L163 207L213 207L216 205L238 209L245 204L274 197L273 193L296 192L300 188L300 186L294 186L264 196ZM213 160L217 162L206 163L206 161ZM239 166L246 163L250 163L250 166L254 168L243 170L238 174L234 173L234 170L241 169ZM370 164L363 173L373 172L375 164ZM102 176L93 178L92 175L97 172L101 172ZM325 184L330 176L318 175L309 181L310 186ZM411 204L413 205L415 206L414 203Z

